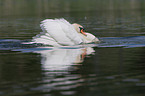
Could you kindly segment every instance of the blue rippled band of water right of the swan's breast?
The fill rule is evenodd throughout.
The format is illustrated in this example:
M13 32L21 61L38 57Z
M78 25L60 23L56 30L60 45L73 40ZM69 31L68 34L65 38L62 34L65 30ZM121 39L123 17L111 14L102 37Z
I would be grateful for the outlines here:
M145 36L131 36L131 37L102 37L102 43L98 47L145 47Z

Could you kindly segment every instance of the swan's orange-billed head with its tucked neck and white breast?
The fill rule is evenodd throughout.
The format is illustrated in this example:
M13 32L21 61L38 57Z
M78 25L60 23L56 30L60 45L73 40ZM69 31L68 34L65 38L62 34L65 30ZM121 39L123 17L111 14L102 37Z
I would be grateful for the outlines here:
M84 31L84 27L74 23L72 24L75 28L75 30L80 33L80 35L83 37L84 43L98 43L100 42L98 38L96 38L93 34L87 33Z

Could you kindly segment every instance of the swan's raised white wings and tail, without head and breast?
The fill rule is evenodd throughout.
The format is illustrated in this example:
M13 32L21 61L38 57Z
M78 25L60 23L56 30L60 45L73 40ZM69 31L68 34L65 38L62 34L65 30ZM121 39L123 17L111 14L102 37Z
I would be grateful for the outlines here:
M40 27L43 32L33 38L36 43L70 46L83 42L73 25L65 19L46 19L41 22Z

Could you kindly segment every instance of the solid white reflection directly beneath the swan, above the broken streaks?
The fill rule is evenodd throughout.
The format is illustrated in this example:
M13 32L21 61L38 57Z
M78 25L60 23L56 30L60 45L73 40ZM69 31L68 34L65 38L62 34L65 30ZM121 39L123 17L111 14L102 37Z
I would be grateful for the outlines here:
M44 70L68 70L73 64L83 62L86 55L94 52L91 47L80 49L54 49L35 51L42 56L41 64Z

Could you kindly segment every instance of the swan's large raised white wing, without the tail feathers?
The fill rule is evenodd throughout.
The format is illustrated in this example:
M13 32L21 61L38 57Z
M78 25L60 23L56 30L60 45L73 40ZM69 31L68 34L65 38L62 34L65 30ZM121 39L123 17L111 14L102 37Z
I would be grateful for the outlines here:
M46 19L41 22L41 28L50 38L61 45L76 45L82 43L81 37L73 26L64 19Z

